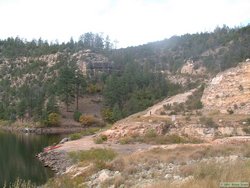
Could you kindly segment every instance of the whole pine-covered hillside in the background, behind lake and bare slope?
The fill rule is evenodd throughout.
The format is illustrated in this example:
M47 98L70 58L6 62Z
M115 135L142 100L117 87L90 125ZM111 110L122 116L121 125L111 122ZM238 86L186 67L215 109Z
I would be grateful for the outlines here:
M250 26L174 36L114 49L108 36L85 33L78 41L0 40L0 119L47 124L59 105L85 94L104 97L103 118L116 121L183 90L166 74L179 74L187 60L216 74L250 57ZM78 111L75 102L73 111Z

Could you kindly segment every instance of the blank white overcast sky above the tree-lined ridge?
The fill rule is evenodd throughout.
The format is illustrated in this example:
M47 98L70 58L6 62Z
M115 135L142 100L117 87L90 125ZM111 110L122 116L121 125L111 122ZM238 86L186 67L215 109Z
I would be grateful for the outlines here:
M103 33L117 47L250 23L250 0L0 0L0 38L67 42Z

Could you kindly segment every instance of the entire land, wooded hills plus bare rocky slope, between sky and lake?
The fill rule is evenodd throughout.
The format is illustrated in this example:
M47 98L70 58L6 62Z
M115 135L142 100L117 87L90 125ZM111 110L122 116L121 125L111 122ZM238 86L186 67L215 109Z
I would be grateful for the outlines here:
M72 133L37 155L44 187L250 181L250 26L111 46L0 41L0 128Z

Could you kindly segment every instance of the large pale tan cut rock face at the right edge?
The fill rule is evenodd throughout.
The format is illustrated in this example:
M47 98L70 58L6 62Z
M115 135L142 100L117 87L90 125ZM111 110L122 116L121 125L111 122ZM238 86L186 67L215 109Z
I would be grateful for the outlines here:
M250 114L250 61L219 73L204 90L201 101L208 110Z

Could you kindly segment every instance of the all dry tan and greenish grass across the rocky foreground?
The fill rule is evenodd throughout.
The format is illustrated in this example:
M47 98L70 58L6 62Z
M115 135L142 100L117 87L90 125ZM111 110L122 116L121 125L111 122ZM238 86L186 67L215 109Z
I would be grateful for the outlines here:
M75 155L75 154L73 154ZM119 171L121 175L115 176L108 181L103 182L102 187L115 185L119 187L124 184L125 187L130 187L131 175L141 172L138 168L139 164L143 164L143 170L150 170L154 165L159 163L164 164L179 164L179 171L175 171L181 177L190 177L188 181L165 180L160 181L155 178L155 182L148 188L215 188L220 182L225 181L250 181L250 160L225 161L223 163L207 160L207 162L199 162L199 160L211 157L221 157L229 155L250 156L250 143L243 144L220 144L220 145L172 145L168 148L154 148L148 151L136 152L130 155L119 155L114 158L113 152L104 151L88 151L87 153L78 153L73 158L75 161L81 161L86 165L89 162L95 163L93 168L84 172L76 178L62 176L55 178L47 185L53 187L84 187L84 181L88 177L96 173L100 169L110 169ZM95 159L94 159L95 158ZM197 160L189 164L190 160ZM101 161L101 162L100 162ZM78 164L80 165L80 164ZM162 175L161 175L162 176ZM158 177L156 175L156 177ZM134 180L135 183L137 180Z

